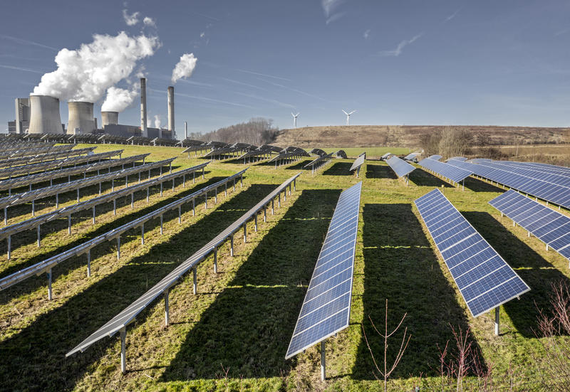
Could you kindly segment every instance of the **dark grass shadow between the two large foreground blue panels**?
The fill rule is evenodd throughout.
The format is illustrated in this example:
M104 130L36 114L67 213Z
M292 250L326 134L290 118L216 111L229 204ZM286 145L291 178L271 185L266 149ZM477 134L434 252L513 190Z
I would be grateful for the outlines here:
M463 331L468 328L453 282L443 275L411 204L365 204L363 221L363 327L376 360L383 359L384 341L368 316L383 331L388 299L388 329L407 313L403 327L388 341L388 364L393 363L404 328L412 335L392 377L437 376L437 345L452 344L450 324ZM352 377L374 380L375 367L363 338L357 352Z

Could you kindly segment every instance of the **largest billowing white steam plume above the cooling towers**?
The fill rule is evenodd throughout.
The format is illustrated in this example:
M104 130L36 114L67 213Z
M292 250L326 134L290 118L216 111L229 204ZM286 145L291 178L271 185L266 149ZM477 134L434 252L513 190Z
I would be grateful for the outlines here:
M43 75L33 94L95 102L127 78L138 60L153 55L159 47L155 36L130 37L124 31L117 36L95 34L92 43L83 43L75 51L61 49L56 55L58 69Z

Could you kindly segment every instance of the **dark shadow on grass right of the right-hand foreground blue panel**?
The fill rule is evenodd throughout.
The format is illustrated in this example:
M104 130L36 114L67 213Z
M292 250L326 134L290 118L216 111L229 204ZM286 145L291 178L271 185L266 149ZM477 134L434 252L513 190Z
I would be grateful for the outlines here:
M519 240L504 225L486 212L463 211L467 221L481 233L483 238L507 261L517 274L529 285L531 291L523 294L520 300L514 299L503 305L503 308L519 333L526 338L534 338L532 329L537 330L539 309L551 309L549 295L552 292L551 282L563 280L570 282L562 272L548 263L527 244ZM511 221L508 221L511 223ZM507 223L507 224L508 224ZM539 240L537 240L539 242ZM540 242L541 246L542 243ZM554 252L554 250L551 250ZM535 305L536 302L536 305ZM492 314L494 316L494 313ZM490 317L490 316L489 316ZM503 333L508 333L503 329Z

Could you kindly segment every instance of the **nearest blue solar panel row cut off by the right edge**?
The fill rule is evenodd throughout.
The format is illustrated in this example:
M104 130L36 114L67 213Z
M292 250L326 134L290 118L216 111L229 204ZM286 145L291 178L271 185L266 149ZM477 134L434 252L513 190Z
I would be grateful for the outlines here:
M510 190L489 204L570 260L570 218Z

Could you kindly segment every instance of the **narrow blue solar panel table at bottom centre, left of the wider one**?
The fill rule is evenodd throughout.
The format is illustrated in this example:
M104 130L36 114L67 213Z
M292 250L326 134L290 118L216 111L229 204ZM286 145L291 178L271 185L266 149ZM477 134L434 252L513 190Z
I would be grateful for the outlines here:
M361 189L359 182L338 198L286 359L348 327Z

